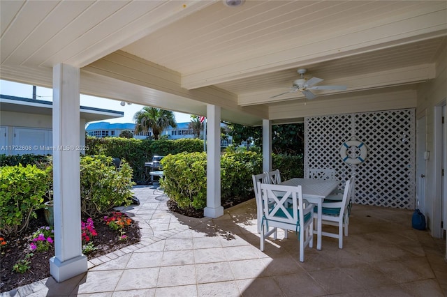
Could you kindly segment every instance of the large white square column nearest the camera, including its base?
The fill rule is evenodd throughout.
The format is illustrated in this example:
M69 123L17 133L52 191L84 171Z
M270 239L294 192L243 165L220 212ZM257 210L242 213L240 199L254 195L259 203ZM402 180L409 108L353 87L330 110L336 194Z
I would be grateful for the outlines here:
M50 273L57 282L87 271L81 241L79 84L79 68L54 66L54 257Z

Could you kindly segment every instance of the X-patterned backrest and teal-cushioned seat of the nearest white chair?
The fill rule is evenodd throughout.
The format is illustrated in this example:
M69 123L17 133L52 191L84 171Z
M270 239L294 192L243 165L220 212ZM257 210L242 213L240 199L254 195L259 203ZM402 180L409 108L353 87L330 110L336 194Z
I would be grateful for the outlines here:
M300 185L258 183L258 188L261 189L265 220L292 224L298 229L300 224L304 224L305 215L313 211L313 204L308 204L307 207L304 204Z

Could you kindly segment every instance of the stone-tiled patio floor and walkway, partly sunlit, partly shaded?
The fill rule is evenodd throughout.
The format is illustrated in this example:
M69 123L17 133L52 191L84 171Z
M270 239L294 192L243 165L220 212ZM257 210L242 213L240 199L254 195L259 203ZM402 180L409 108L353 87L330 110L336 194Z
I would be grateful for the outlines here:
M160 195L135 187L140 243L1 296L447 296L445 241L412 229L411 211L355 205L344 248L323 237L300 263L293 233L259 250L254 199L211 220L169 213Z

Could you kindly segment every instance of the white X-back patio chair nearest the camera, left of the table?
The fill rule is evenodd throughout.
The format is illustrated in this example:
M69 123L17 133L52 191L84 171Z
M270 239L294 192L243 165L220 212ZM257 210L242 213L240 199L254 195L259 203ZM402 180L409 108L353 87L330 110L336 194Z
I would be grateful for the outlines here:
M304 262L305 247L309 245L309 248L312 248L314 240L314 204L302 199L300 185L295 187L258 183L258 188L261 189L263 199L261 251L264 250L265 238L276 233L277 228L293 230L298 232L300 261ZM274 201L274 204L269 206L270 200Z

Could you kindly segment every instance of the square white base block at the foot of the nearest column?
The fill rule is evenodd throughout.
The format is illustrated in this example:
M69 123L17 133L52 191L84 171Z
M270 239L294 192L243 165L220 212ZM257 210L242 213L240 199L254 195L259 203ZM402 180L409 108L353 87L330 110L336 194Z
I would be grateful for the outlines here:
M64 282L64 280L85 272L87 272L87 257L83 254L64 262L56 257L50 258L50 274L56 282Z

